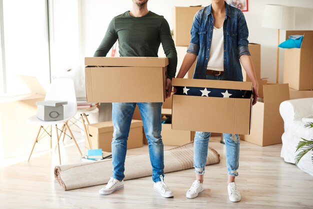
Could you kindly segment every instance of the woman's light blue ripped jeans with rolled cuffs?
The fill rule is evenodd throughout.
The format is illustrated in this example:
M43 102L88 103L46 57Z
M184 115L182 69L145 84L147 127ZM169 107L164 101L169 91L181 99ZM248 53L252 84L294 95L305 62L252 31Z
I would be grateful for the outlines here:
M223 80L223 75L206 75L206 79ZM208 141L210 132L195 132L194 136L194 155L193 166L196 174L204 174ZM239 135L232 133L223 133L226 148L226 166L227 173L232 176L237 176L239 166Z

